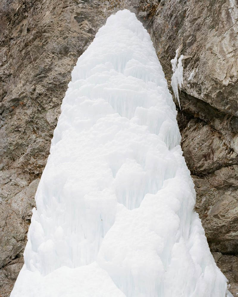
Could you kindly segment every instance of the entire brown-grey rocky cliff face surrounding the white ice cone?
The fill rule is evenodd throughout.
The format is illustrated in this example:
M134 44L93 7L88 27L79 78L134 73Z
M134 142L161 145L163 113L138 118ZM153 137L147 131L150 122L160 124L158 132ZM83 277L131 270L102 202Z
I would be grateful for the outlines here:
M238 7L234 0L4 0L0 4L0 296L23 264L34 195L78 56L107 17L134 11L168 81L180 47L178 121L217 265L238 293Z

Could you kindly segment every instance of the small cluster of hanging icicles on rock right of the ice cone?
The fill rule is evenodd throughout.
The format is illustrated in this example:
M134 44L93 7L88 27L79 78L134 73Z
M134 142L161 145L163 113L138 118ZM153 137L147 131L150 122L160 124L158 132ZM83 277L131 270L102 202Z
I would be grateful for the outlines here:
M183 78L184 68L182 63L183 59L184 59L184 56L180 55L180 48L177 48L175 58L171 60L172 70L173 70L173 75L171 77L171 87L173 89L175 98L179 102L179 107L180 107L179 91L181 90L181 87L184 84L184 78ZM178 89L178 86L179 86L179 89Z

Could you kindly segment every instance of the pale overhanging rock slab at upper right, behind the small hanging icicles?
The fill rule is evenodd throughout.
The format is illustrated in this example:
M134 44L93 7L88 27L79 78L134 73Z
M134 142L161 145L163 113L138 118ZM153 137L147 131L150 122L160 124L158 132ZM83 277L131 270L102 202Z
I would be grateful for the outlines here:
M152 37L165 76L176 48L184 54L184 91L238 116L238 8L236 1L160 3Z

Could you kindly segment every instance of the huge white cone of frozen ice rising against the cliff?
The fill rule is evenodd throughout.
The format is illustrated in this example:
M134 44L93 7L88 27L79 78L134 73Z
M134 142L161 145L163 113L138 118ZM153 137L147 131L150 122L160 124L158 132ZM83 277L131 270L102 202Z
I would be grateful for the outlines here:
M11 297L225 297L151 39L128 10L80 56Z

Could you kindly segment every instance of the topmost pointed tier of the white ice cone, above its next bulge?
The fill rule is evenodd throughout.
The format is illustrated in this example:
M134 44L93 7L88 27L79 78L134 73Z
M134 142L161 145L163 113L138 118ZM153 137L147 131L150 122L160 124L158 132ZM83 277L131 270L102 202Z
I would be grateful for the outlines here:
M161 86L166 83L150 35L129 10L111 15L98 30L93 42L79 57L72 82L112 70Z

